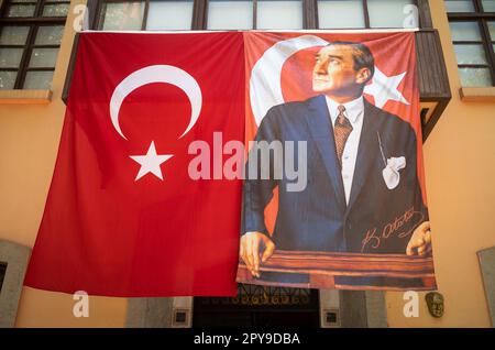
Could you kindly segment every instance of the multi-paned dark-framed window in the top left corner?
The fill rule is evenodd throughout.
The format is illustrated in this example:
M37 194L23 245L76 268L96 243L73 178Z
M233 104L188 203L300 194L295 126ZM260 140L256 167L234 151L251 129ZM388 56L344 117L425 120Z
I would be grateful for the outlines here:
M6 0L0 8L0 89L50 89L69 1Z

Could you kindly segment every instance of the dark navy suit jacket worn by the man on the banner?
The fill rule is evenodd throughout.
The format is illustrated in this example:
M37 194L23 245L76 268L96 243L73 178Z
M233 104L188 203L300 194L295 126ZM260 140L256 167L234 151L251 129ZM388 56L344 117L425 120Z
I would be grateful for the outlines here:
M324 96L273 107L255 141L307 141L307 186L287 192L282 179L252 178L246 167L242 233L267 234L264 209L278 186L278 211L272 236L276 249L362 253L405 253L413 230L428 219L416 168L416 134L409 123L364 100L361 139L349 205L345 203L333 127ZM406 157L400 182L388 189L382 171L386 158ZM297 146L296 146L297 150ZM256 152L252 149L252 153ZM297 151L295 152L297 154ZM260 158L260 157L258 157ZM296 162L297 163L297 162Z

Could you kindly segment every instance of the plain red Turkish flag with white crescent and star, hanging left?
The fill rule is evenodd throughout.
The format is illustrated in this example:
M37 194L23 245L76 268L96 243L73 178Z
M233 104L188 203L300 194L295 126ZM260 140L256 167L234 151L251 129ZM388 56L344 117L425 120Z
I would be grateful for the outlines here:
M25 285L235 295L242 179L221 166L243 139L242 33L81 34ZM195 141L210 177L189 174Z

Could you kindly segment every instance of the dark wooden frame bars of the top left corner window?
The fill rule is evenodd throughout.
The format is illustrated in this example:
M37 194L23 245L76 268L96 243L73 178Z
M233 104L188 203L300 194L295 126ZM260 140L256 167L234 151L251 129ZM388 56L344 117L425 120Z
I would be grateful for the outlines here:
M32 17L6 17L10 4L35 4ZM68 4L70 1L55 1L55 0L32 0L30 2L12 3L10 0L4 0L0 7L0 32L4 26L29 26L28 37L24 45L0 45L1 48L22 48L22 57L16 68L0 68L0 72L18 72L14 85L11 89L28 90L24 88L25 77L29 72L55 72L53 67L30 67L30 59L34 48L58 48L61 45L38 45L35 44L36 35L41 26L65 26L67 17L43 17L43 8L45 4Z

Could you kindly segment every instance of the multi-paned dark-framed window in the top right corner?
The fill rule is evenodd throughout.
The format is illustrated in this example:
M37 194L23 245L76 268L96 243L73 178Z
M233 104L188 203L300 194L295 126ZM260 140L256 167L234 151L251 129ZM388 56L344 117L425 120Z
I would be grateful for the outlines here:
M495 85L495 0L446 0L464 87Z

